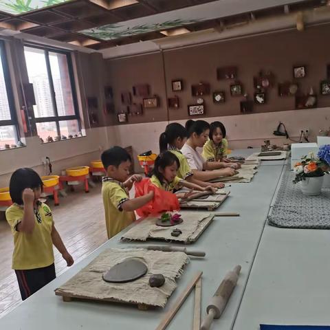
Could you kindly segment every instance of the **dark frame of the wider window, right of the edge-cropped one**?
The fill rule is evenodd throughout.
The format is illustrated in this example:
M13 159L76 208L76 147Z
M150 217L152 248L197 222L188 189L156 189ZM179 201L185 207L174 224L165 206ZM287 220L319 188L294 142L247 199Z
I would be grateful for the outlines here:
M51 116L51 117L40 117L40 118L34 117L34 122L36 122L36 123L55 122L57 135L61 136L60 122L65 121L65 120L77 120L79 131L81 131L82 126L81 126L80 113L79 113L79 108L78 108L76 83L75 83L75 79L74 79L74 66L73 66L72 57L71 57L72 52L67 51L67 50L61 50L56 47L44 47L41 45L36 45L34 43L24 43L24 47L36 48L38 50L43 50L45 52L44 55L45 55L45 62L46 62L46 67L47 67L47 76L48 76L48 82L50 84L50 94L51 94L52 105L53 105L54 114L55 114L54 116ZM56 96L55 96L55 90L54 90L54 82L53 82L53 77L52 77L52 69L50 67L50 55L49 55L50 52L63 54L67 58L67 69L69 71L69 80L70 80L70 86L71 86L71 91L72 91L72 101L74 104L74 115L58 115Z

